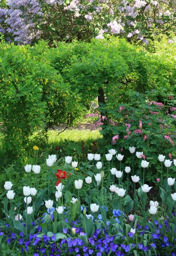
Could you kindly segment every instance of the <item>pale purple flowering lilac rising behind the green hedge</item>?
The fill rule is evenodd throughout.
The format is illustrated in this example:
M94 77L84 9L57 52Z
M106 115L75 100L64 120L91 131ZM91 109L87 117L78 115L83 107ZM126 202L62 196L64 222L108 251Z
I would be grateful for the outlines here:
M31 44L103 39L120 35L148 44L158 32L175 29L175 0L6 0L0 3L0 32L7 41Z

